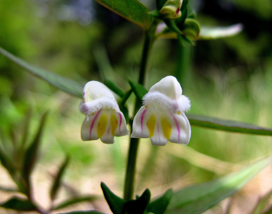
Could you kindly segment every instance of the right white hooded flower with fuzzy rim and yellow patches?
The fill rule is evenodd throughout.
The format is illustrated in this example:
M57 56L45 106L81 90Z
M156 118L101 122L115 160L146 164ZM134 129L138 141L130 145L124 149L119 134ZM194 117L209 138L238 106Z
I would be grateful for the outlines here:
M150 138L156 146L168 141L188 144L191 127L184 112L191 105L175 77L167 76L153 85L144 95L143 105L134 117L132 138Z

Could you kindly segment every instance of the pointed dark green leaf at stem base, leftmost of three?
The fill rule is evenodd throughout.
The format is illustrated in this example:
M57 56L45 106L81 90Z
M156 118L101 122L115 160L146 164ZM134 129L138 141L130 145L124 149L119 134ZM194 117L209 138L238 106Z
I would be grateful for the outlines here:
M121 214L123 213L123 207L125 204L125 200L121 197L115 195L109 187L104 182L101 182L101 189L103 191L104 197L109 204L110 209L113 214Z

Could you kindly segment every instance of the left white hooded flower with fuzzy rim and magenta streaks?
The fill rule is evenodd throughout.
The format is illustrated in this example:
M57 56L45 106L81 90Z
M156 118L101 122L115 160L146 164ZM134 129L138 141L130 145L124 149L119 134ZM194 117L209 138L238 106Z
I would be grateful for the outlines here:
M90 81L83 89L79 111L86 115L81 126L84 141L101 139L112 144L114 136L129 135L125 117L112 91L101 82Z

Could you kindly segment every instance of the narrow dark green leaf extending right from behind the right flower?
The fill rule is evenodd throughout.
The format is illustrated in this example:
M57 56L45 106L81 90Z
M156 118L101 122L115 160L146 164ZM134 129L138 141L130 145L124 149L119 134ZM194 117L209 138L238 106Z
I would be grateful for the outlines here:
M223 120L202 115L187 115L191 125L205 128L217 129L229 132L240 132L255 135L272 135L272 129L262 128L250 123L237 122L233 120Z

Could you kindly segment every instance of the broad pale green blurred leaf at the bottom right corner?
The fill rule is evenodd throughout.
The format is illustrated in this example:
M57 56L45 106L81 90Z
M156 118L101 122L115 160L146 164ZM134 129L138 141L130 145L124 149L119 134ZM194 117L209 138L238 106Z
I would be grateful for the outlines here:
M246 168L203 184L185 187L172 196L166 213L202 213L243 187L258 172L272 162L263 158Z

